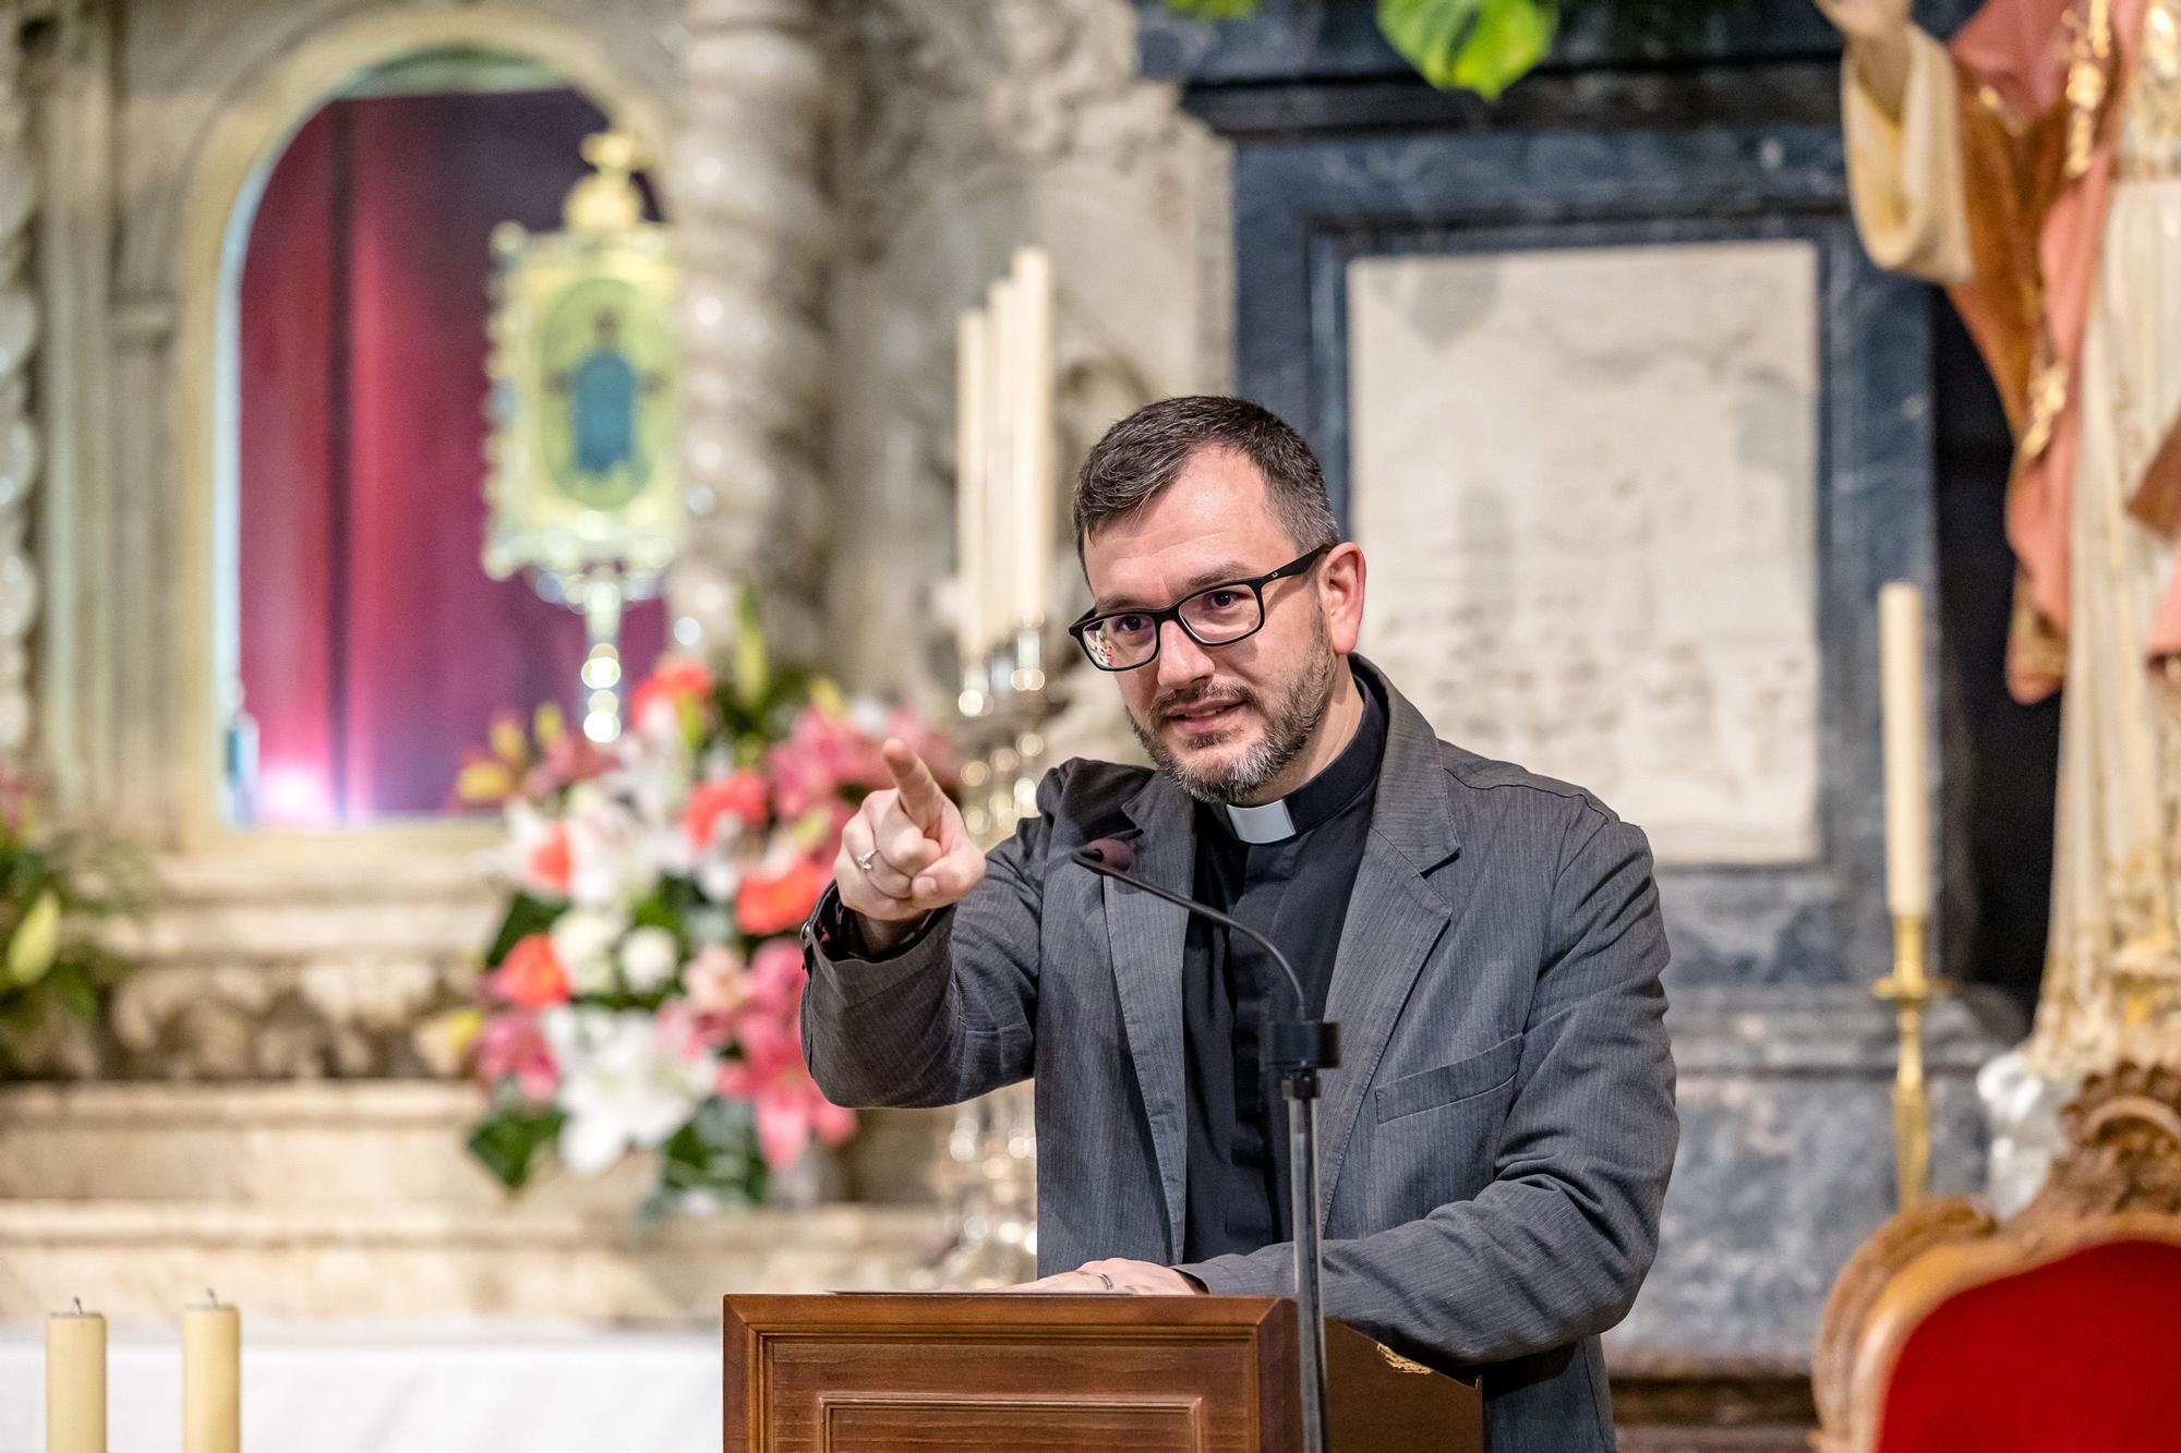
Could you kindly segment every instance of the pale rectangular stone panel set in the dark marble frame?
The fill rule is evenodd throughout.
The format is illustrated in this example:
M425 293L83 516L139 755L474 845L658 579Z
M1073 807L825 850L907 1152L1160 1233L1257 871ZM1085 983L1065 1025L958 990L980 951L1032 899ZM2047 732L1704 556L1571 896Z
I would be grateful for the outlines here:
M1662 862L1817 851L1815 329L1802 242L1350 271L1363 648Z

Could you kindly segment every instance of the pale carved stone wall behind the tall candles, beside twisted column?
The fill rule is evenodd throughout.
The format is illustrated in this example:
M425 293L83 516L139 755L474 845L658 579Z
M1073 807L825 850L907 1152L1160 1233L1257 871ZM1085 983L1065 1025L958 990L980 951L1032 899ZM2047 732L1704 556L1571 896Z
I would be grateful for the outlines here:
M1171 87L1136 79L1125 0L877 0L844 15L855 57L842 175L851 253L835 288L840 530L829 659L848 681L933 707L955 692L955 312L1040 242L1058 284L1060 467L1130 408L1204 388L1224 334L1206 319L1224 273L1202 266L1224 216L1219 148ZM1224 268L1224 249L1219 251ZM1067 489L1067 478L1056 480ZM1064 508L1056 511L1060 517ZM1069 539L1047 561L1053 613L1082 580ZM914 641L872 620L925 622ZM1112 692L1049 659L1067 753L1128 755ZM1082 672L1088 676L1088 672Z

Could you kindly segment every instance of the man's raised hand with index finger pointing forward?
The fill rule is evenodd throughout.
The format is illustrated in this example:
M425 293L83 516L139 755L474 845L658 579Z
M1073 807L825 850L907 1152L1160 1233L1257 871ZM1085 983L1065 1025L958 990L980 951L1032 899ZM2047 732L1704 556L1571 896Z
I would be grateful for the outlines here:
M894 785L872 792L840 833L833 881L844 908L875 927L879 947L901 936L877 925L912 925L960 903L984 879L984 853L931 768L899 737L879 748Z

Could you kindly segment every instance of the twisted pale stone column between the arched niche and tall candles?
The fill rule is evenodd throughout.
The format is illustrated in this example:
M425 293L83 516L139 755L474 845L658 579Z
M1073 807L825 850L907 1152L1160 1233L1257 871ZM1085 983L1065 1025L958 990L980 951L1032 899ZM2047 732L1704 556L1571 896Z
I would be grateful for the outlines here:
M827 532L835 207L820 13L820 0L689 0L672 166L694 517L670 596L718 644L752 583L790 655L818 646Z

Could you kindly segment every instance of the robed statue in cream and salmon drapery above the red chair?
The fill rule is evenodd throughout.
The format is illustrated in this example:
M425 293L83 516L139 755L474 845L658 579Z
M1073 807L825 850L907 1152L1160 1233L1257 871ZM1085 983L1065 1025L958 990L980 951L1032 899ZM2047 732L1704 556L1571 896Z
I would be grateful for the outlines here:
M2181 0L1987 0L1943 46L1908 0L1817 4L1863 242L1948 286L2015 432L2009 687L2068 683L2013 1069L2181 1062Z

